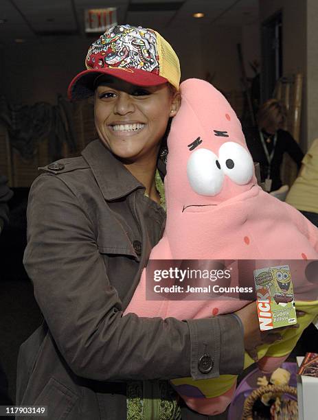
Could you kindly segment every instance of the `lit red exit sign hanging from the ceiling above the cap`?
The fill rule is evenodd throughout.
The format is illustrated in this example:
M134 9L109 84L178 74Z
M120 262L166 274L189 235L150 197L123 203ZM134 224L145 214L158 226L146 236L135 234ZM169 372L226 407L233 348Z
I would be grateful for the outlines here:
M85 32L105 32L117 25L117 8L85 10Z

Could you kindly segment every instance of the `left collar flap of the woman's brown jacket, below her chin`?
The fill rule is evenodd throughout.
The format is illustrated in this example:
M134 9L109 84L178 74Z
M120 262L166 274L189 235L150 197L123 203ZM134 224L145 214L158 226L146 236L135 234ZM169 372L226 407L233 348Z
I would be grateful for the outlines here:
M122 198L137 188L145 189L100 140L91 141L82 156L91 167L105 200Z

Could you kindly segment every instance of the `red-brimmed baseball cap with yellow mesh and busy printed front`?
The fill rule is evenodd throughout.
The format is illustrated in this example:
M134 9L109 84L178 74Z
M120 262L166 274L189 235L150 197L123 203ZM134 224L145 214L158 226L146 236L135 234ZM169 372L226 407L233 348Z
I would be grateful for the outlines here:
M71 100L93 95L95 79L101 74L137 86L169 82L179 89L180 64L171 45L156 31L141 26L113 26L89 47L87 70L69 84Z

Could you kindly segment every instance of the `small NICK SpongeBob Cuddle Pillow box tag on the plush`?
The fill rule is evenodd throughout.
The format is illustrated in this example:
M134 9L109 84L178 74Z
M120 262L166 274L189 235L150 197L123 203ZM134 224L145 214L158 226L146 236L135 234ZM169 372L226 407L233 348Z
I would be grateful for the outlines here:
M297 322L289 266L254 271L260 329L286 327Z

